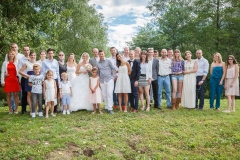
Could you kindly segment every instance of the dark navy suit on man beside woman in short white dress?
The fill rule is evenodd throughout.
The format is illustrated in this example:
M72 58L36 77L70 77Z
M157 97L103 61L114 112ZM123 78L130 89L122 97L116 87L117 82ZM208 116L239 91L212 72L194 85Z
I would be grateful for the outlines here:
M128 63L130 64L130 66L132 66L131 74L129 75L130 81L131 81L132 93L129 93L129 100L130 100L131 107L137 110L138 109L138 87L135 87L134 83L139 80L140 70L141 70L140 62L139 60L134 59L133 61L128 60Z

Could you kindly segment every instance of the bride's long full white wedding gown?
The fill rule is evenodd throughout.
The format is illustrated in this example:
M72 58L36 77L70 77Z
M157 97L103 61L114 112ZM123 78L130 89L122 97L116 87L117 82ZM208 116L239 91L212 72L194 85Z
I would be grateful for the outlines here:
M86 68L81 66L79 70L86 71ZM89 75L88 73L81 73L74 78L72 82L73 97L71 98L70 102L70 110L77 111L85 109L92 111L93 105L88 101L89 92Z

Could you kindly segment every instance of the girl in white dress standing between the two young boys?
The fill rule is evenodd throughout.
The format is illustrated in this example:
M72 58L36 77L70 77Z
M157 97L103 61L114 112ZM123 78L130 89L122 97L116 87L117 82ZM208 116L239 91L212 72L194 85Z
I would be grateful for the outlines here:
M43 95L46 106L46 118L48 118L48 110L51 107L51 116L55 117L53 114L54 111L54 101L57 98L57 85L55 80L53 79L53 71L48 70L46 73L46 80L43 82Z

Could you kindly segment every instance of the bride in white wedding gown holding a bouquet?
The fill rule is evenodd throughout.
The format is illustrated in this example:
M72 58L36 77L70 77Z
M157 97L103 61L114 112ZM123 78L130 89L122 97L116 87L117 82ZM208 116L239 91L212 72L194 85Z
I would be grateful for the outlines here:
M72 98L70 103L70 110L77 111L86 109L93 110L93 105L88 102L89 89L89 75L86 65L89 64L89 54L84 52L81 56L79 64L76 68L77 77L72 82Z

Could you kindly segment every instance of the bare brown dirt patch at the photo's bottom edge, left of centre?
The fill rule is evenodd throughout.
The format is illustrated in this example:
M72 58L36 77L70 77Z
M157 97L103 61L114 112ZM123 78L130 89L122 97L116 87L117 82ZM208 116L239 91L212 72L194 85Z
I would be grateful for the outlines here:
M73 157L78 157L80 155L79 153L79 147L75 143L67 143L66 149L59 149L54 150L51 153L49 153L46 157L48 160L71 160Z

